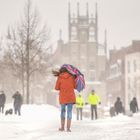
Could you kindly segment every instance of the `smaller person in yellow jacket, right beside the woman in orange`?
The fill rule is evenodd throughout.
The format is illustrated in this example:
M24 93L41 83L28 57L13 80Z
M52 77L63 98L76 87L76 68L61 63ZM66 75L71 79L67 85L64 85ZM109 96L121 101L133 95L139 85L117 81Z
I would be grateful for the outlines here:
M77 120L81 119L83 116L83 106L84 106L84 99L81 94L76 97L76 112L77 112Z

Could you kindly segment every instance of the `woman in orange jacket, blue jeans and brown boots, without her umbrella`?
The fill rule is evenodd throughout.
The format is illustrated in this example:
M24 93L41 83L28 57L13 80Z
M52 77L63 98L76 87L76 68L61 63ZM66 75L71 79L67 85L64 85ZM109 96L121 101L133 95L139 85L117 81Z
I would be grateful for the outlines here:
M67 131L71 132L71 119L73 104L76 103L74 89L76 88L75 78L66 68L60 68L59 71L53 71L57 76L55 89L59 90L59 102L61 105L61 128L59 131L65 130L65 112L67 109Z

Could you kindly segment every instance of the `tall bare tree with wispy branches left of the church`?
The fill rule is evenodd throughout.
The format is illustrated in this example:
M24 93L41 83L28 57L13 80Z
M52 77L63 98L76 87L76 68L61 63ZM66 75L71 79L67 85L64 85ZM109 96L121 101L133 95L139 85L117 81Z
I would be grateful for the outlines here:
M30 78L42 68L42 54L49 37L50 31L46 25L41 25L37 10L33 9L31 0L28 0L21 22L7 30L9 65L21 78L23 95L26 87L27 104L30 102Z

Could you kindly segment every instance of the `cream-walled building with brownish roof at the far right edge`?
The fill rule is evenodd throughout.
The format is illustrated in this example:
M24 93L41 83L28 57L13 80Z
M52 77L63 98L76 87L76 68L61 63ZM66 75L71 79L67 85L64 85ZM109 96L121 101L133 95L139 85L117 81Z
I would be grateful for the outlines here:
M140 41L134 41L133 50L125 56L125 106L136 97L140 105Z

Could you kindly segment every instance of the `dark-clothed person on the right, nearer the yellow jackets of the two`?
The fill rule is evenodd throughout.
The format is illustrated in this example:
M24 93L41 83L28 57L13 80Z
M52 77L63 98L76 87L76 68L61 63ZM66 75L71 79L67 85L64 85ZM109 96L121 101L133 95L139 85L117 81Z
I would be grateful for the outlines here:
M115 107L115 112L117 115L119 113L123 113L123 106L122 106L122 101L121 101L120 97L117 97L114 107Z

